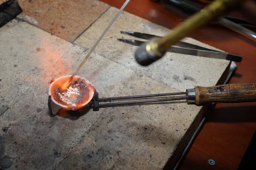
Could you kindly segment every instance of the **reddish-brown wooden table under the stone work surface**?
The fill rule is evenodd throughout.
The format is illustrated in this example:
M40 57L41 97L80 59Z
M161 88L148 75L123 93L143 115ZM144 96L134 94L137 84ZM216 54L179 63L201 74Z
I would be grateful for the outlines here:
M101 0L120 8L125 0ZM253 22L256 3L245 1L240 9L229 15ZM169 10L150 0L131 0L125 8L131 14L172 29L179 19L187 16L180 11ZM232 54L243 56L237 64L236 74L230 83L256 82L256 43L226 28L205 27L188 37L212 45ZM218 69L218 68L216 68ZM256 102L217 104L197 136L180 169L237 169L245 150L256 130ZM208 160L215 165L209 166Z

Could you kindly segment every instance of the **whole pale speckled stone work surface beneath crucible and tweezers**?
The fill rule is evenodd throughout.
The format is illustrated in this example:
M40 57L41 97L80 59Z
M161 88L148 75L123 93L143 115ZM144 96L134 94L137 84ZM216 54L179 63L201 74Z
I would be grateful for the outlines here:
M0 34L1 167L163 169L166 164L175 164L206 106L167 102L49 116L50 80L76 69L116 12L111 7L103 14L79 37L79 45L21 21ZM136 47L116 40L126 37L119 31L129 29L158 35L169 31L122 12L79 72L93 84L99 97L215 85L228 68L225 60L171 53L141 67L133 57Z

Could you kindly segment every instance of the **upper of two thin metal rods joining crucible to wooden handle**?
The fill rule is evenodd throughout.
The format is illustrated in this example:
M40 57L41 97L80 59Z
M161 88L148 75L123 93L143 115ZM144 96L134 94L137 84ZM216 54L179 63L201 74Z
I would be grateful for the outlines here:
M99 98L99 102L108 101L108 100L136 99L136 98L144 98L144 97L173 96L173 95L182 95L182 94L186 94L186 91L177 92L177 93L146 94L146 95L138 95L138 96L121 96L121 97Z

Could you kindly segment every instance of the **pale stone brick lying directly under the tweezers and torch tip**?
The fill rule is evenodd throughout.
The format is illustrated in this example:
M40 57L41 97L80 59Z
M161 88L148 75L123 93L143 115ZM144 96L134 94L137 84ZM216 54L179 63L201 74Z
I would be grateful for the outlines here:
M90 48L108 26L116 12L116 8L109 8L75 43ZM196 85L216 85L230 63L230 61L222 59L168 53L154 64L143 67L137 64L134 59L134 51L137 47L116 40L116 38L122 37L128 39L136 38L120 34L119 31L138 31L163 36L169 32L169 29L133 14L122 12L99 43L95 52L180 91L184 91L186 88L194 88ZM213 48L191 38L185 38L183 41Z

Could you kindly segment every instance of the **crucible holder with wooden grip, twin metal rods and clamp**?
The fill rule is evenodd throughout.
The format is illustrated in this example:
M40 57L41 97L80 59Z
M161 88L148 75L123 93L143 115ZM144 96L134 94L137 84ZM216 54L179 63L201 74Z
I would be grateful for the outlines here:
M167 98L166 96L172 96ZM157 99L145 99L157 97ZM161 98L159 98L161 97ZM143 100L141 100L143 98ZM134 100L126 102L113 102L114 100ZM137 100L136 100L137 99ZM186 100L187 103L196 105L204 104L205 102L221 102L221 103L239 103L239 102L256 102L256 83L237 83L216 85L212 87L196 86L192 89L186 89L185 92L166 93L166 94L148 94L138 96L121 96L98 98L98 93L86 108L93 108L93 111L99 111L99 108L114 107L122 105L138 105L143 103L168 102L176 100ZM105 102L105 103L102 103Z

